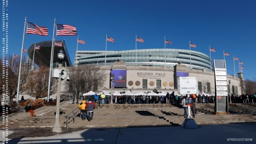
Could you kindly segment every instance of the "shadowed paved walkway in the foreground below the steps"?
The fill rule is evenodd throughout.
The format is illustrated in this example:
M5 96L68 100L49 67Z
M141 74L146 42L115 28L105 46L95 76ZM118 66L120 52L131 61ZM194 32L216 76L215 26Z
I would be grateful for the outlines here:
M52 129L9 130L11 144L216 144L256 143L256 123L201 125L198 129L180 126L139 128L68 129L52 133ZM2 131L0 131L2 133ZM12 134L10 134L12 133ZM40 137L42 136L42 137ZM11 139L11 140L10 140ZM3 138L0 138L2 141Z

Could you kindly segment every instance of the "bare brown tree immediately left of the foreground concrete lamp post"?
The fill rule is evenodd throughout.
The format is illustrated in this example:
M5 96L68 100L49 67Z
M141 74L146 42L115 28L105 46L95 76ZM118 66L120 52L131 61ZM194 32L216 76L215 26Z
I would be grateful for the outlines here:
M44 98L48 95L49 68L42 67L39 70L31 71L26 92L28 95L38 98ZM50 95L57 90L57 80L52 78L50 83Z

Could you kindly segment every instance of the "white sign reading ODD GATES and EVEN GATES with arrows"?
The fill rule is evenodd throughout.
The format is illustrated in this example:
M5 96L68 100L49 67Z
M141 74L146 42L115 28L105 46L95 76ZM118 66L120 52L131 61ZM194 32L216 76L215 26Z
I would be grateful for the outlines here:
M179 94L197 94L196 77L179 77L178 93Z

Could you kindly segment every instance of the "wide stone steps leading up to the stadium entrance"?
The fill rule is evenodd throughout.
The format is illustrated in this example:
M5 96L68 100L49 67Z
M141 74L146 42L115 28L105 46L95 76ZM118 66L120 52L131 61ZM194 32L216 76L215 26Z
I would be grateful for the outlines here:
M78 107L77 104L69 104L61 108L60 124L67 126L67 116ZM55 123L55 111L47 111L37 114L35 117L17 119L9 123L9 128L24 127L53 127ZM171 126L181 125L185 119L184 109L171 104L103 104L94 110L91 121L82 120L79 112L76 119L70 118L69 128L79 127L132 127L132 126ZM199 113L196 115L197 124L225 124L237 122L256 122L256 116L252 114L231 114L225 116Z

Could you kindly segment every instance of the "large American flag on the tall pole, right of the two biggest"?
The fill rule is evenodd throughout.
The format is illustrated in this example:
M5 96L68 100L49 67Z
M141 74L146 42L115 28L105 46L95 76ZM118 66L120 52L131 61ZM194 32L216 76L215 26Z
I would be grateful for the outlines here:
M57 36L76 35L76 27L70 25L56 24Z

